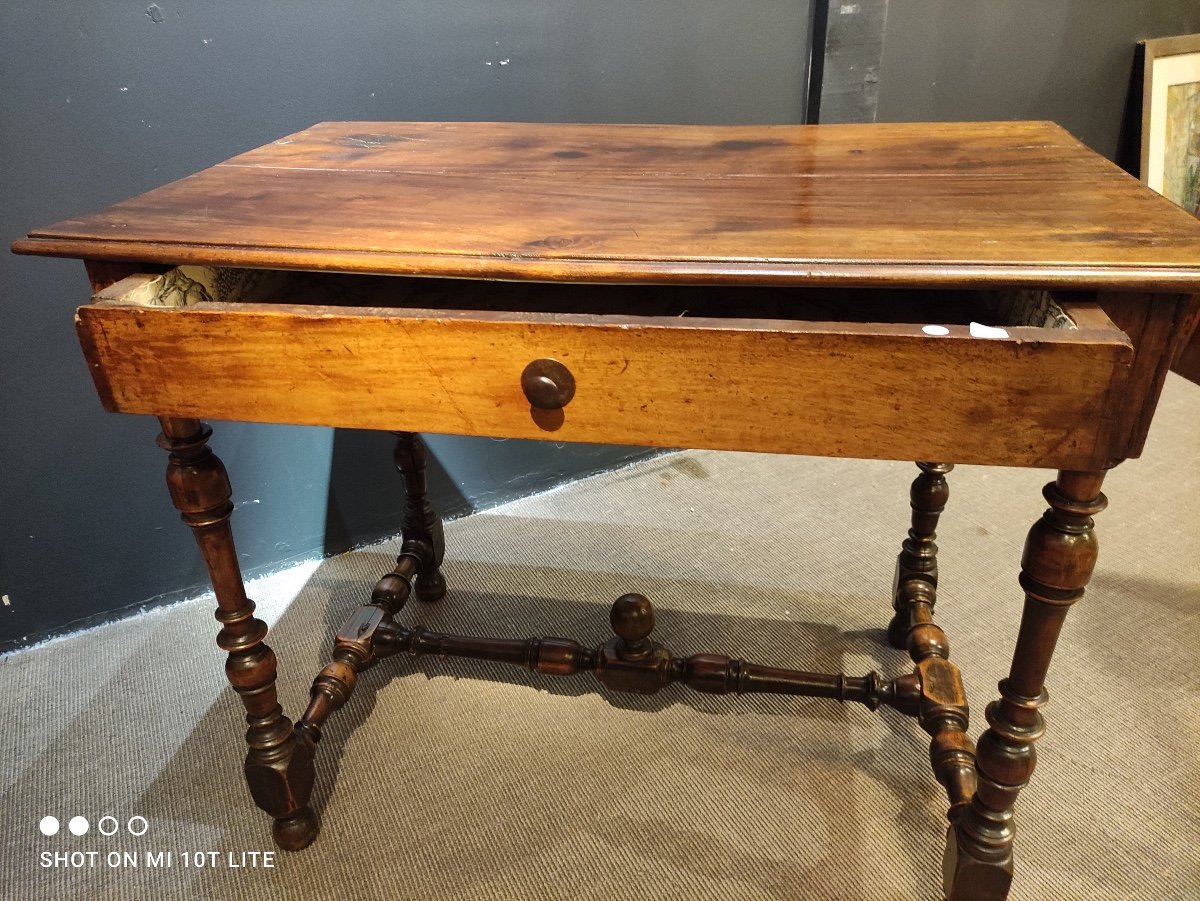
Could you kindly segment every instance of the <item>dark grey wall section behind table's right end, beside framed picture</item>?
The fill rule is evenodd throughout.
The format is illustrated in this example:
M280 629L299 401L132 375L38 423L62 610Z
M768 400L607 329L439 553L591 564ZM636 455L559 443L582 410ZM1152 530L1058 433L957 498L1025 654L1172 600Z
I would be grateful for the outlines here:
M1110 158L1136 143L1136 42L1200 31L1198 0L892 0L887 17L877 121L1050 119Z

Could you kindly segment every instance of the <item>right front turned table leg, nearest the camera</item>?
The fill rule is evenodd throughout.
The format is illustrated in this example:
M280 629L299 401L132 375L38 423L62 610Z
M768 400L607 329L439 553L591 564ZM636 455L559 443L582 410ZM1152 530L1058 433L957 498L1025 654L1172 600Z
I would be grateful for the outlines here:
M1043 491L1050 509L1030 529L1021 557L1025 611L1013 667L988 705L979 739L978 788L947 839L944 889L949 901L1006 897L1013 878L1013 807L1037 764L1034 741L1045 725L1045 678L1067 611L1084 596L1096 565L1092 516L1106 500L1104 473L1058 473Z

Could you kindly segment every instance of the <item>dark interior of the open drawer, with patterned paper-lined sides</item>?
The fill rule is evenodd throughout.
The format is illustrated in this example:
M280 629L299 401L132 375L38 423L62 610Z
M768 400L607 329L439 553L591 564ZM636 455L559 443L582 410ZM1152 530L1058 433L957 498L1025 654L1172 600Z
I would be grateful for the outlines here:
M288 304L551 316L1078 326L1070 305L1044 290L558 284L208 266L179 266L97 299L154 307Z

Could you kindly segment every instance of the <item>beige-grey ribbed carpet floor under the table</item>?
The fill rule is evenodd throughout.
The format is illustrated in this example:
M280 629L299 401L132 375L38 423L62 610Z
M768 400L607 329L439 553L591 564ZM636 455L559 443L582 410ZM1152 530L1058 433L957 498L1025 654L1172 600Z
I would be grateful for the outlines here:
M451 523L451 594L402 618L599 643L611 601L637 590L676 653L890 678L910 668L882 626L914 474L654 458ZM938 612L978 735L1007 671L1046 473L960 467L950 479ZM1049 731L1018 811L1014 899L1200 897L1200 388L1171 377L1145 457L1105 488L1100 561L1055 657ZM292 715L396 549L253 587ZM329 723L318 842L270 869L232 869L229 852L240 863L272 846L240 780L241 709L215 630L202 599L0 662L0 895L941 896L943 793L926 737L894 711L678 686L637 698L588 677L407 657L365 675ZM47 815L64 825L49 837ZM66 828L77 815L92 823L78 837ZM103 815L122 831L101 835ZM134 816L142 836L124 831ZM90 851L94 866L42 865L47 852ZM109 866L113 851L139 865ZM172 865L148 867L160 851ZM217 865L194 866L210 851Z

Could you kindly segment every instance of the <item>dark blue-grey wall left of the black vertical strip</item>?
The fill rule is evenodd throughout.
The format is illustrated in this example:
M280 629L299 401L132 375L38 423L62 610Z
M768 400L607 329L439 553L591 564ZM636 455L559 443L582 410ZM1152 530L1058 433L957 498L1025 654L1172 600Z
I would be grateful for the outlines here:
M323 119L787 122L800 0L182 0L0 6L0 244ZM0 647L196 590L156 424L104 414L78 263L0 253ZM385 436L216 424L247 569L388 534ZM462 512L629 450L433 438Z

